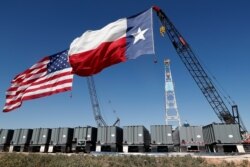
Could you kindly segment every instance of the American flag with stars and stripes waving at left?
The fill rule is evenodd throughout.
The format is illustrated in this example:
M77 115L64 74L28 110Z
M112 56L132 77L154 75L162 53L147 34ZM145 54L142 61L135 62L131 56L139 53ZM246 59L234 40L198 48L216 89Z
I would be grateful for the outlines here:
M3 112L20 107L25 100L71 90L72 82L68 50L47 56L11 81Z

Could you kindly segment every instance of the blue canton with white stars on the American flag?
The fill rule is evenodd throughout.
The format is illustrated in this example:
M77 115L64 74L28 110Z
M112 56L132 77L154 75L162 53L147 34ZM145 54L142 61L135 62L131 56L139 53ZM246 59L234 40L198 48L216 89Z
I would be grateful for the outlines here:
M69 68L68 50L49 56L50 62L47 64L48 74Z

